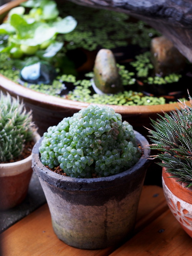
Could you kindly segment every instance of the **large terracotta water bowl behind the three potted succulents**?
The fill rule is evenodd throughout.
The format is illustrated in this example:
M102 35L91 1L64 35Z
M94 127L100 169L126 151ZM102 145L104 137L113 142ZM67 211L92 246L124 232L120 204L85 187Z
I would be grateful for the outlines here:
M25 0L16 0L0 7L0 17L5 17L6 13L13 7L16 7ZM45 95L25 88L8 80L0 75L0 90L8 91L12 96L19 96L26 105L26 108L33 110L33 120L38 126L40 135L47 130L49 126L57 125L64 117L71 116L81 108L87 107L89 103L66 100L55 96ZM99 104L98 104L99 105ZM147 130L143 127L150 127L149 117L157 118L157 113L162 111L169 112L178 107L177 103L152 105L152 106L117 106L110 105L117 113L122 115L123 120L127 120L135 130L143 135Z

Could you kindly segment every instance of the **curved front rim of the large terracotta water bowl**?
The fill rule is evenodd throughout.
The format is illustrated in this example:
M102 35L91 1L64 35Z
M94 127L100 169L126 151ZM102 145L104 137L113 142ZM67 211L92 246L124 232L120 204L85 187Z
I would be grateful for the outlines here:
M45 93L41 93L38 91L31 90L26 88L18 83L15 83L5 76L0 74L0 88L1 90L8 91L11 95L22 97L24 101L28 101L29 103L33 103L35 105L41 105L44 108L55 110L61 110L64 108L81 110L82 108L86 108L89 105L98 105L98 106L106 106L105 104L95 104L95 103L86 103L82 101L73 101L67 100L64 98L46 95ZM186 104L190 105L189 101L186 101ZM44 105L44 106L43 106ZM175 108L179 108L178 103L166 103L161 105L135 105L135 106L120 106L120 105L108 105L113 108L119 114L129 114L135 115L135 113L143 113L143 114L156 114L162 111L171 111Z

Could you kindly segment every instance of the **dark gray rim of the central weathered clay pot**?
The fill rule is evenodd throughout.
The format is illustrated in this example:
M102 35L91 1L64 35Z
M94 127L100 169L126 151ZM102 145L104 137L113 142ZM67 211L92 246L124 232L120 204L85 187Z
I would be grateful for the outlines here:
M124 179L125 177L127 177L128 179L129 175L134 173L137 169L140 170L143 167L147 168L147 166L149 165L149 154L150 154L150 149L148 146L149 143L146 140L146 138L142 136L140 133L138 133L137 131L134 131L134 133L136 135L137 141L141 144L141 146L142 147L145 146L145 148L143 149L143 154L139 159L139 161L134 166L116 175L111 175L111 176L101 177L101 178L72 178L72 177L60 175L58 173L54 173L53 171L46 168L45 165L43 165L43 163L41 163L40 161L39 146L41 145L41 141L43 137L41 137L41 139L33 147L32 168L38 176L39 176L38 172L43 174L44 181L47 181L52 185L57 184L57 186L59 187L63 187L63 185L61 185L61 182L64 182L66 184L76 183L79 186L79 189L83 190L81 186L86 186L86 185L93 186L93 183L94 184L99 183L101 185L101 183L111 183L114 180L121 180L121 182L123 182L122 179ZM36 171L36 169L38 170Z

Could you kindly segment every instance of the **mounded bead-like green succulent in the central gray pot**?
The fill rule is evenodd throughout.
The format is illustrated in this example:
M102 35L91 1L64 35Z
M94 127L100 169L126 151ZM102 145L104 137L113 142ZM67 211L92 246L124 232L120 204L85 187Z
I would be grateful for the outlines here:
M141 157L132 126L112 108L89 105L44 133L41 162L67 176L117 174Z

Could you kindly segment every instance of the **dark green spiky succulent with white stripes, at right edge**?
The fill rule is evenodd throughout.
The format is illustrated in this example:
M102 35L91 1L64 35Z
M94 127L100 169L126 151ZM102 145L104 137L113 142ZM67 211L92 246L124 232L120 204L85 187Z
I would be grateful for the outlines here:
M151 120L155 131L149 130L153 142L150 148L161 151L156 157L163 163L158 164L166 167L177 181L187 183L186 187L192 186L192 98L189 98L190 106L180 102L180 110Z

